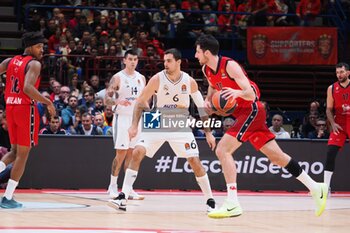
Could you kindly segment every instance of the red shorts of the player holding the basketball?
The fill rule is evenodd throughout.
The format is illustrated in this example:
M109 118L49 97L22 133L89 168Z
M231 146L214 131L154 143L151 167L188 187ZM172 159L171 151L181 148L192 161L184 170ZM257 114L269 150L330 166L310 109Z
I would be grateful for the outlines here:
M260 150L275 138L266 126L266 111L260 101L238 107L233 116L236 118L235 123L226 133L238 141L249 141L256 150Z

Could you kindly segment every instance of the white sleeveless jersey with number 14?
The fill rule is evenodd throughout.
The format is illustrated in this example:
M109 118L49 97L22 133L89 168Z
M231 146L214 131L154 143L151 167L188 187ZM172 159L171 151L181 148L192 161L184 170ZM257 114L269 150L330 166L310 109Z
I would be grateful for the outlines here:
M137 97L140 96L145 83L143 76L135 70L133 76L129 76L124 70L117 73L119 77L118 100L128 100L129 106L118 105L116 114L132 115Z

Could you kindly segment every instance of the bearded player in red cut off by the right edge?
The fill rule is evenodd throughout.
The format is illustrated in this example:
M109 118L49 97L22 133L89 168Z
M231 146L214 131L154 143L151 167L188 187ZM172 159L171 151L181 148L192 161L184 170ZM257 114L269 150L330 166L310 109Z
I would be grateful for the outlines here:
M330 187L335 167L335 158L346 138L350 138L350 79L349 65L335 66L338 82L327 89L327 119L332 126L328 140L327 160L324 169L324 182Z

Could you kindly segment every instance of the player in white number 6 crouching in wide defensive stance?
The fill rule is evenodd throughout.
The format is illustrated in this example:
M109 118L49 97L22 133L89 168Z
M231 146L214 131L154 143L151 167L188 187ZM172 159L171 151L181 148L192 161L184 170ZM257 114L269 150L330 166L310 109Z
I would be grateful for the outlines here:
M198 109L203 109L204 100L202 94L198 91L196 81L187 73L182 72L180 65L180 51L177 49L169 49L165 51L165 69L154 75L149 80L149 83L143 90L141 96L136 101L132 126L129 129L130 138L134 138L137 135L142 111L148 108L148 101L153 95L156 95L157 97L157 112L160 110L162 117L164 117L163 111L165 110L168 110L167 113L172 115L175 115L176 113L176 116L184 115L188 117L190 96ZM204 111L199 112L203 120L208 119L208 116ZM109 201L109 206L117 210L126 210L126 200L132 191L132 185L136 180L142 159L145 155L152 158L163 143L167 141L175 154L178 157L186 158L190 164L196 176L196 180L205 196L205 200L207 201L207 211L215 209L215 201L213 199L208 175L199 160L198 146L192 131L186 130L186 132L184 132L184 129L180 130L179 128L174 128L173 130L174 131L166 133L160 133L159 131L141 132L133 151L129 167L125 172L122 192L119 193L117 198ZM210 148L214 150L216 145L215 138L211 134L210 129L207 128L205 131L207 143Z

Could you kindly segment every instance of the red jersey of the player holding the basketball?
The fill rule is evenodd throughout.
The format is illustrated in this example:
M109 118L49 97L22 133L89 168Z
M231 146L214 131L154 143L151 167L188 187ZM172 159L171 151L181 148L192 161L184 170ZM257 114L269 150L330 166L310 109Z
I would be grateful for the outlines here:
M234 61L234 60L229 58L229 57L221 57L220 56L216 71L213 71L208 66L204 67L204 72L208 78L208 82L210 83L210 85L213 88L215 88L218 91L220 91L224 87L230 87L232 89L241 90L241 88L238 86L238 84L235 81L235 77L230 77L229 74L226 72L226 67L227 67L228 61ZM249 80L249 83L252 86L252 88L256 94L256 98L257 98L256 100L259 100L260 91L259 91L258 86L248 78L248 76L243 68L242 68L242 70L243 70L243 73L245 74L245 76L247 77L247 79ZM238 106L250 105L251 103L252 103L252 101L248 101L248 100L245 100L242 98L237 98L237 105Z

